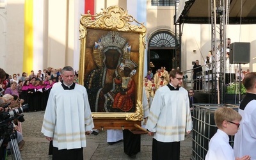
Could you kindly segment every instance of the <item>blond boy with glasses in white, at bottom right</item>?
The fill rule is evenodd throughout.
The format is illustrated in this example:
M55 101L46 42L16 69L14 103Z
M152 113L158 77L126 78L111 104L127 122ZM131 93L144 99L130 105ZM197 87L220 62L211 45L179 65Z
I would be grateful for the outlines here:
M250 156L235 158L234 150L228 143L228 136L233 136L238 131L242 116L232 108L223 107L215 111L214 120L218 131L210 140L205 160L249 160Z

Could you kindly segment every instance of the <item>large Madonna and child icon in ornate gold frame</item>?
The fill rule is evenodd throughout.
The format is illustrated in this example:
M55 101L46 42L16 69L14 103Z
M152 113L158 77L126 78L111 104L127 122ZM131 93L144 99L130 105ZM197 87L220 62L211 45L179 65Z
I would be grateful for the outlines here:
M134 121L143 117L140 82L145 31L145 26L120 6L82 15L79 82L86 87L93 117Z

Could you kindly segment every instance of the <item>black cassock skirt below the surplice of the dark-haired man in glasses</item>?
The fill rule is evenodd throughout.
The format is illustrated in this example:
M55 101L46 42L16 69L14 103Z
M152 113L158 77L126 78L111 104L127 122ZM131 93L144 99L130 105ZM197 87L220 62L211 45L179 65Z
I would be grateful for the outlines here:
M152 160L179 160L180 141L161 142L153 138Z

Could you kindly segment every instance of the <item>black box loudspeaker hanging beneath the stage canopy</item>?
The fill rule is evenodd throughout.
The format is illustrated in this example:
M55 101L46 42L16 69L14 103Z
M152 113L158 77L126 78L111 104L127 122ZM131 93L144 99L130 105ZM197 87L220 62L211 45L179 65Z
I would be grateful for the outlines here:
M230 44L229 63L250 63L250 43L234 42Z

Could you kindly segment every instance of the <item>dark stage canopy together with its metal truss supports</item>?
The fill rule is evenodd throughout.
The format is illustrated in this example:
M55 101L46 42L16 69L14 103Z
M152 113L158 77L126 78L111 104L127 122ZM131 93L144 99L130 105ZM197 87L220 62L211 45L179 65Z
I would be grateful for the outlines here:
M247 12L241 12L241 7ZM230 9L231 8L231 9ZM256 1L245 0L177 0L175 1L175 35L177 54L181 54L182 25L211 24L211 51L214 55L212 70L211 103L223 103L225 99L225 63L228 24L256 24ZM211 15L211 17L209 17ZM218 45L217 45L218 44Z

